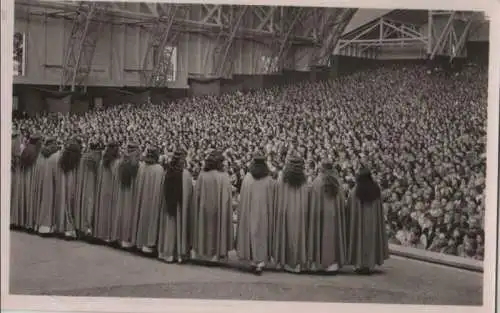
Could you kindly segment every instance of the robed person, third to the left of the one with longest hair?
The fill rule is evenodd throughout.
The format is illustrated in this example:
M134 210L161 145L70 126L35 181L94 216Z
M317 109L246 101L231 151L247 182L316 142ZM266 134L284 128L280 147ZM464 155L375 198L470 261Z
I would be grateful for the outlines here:
M113 225L114 188L118 174L120 147L110 142L104 150L97 182L97 202L94 209L93 237L111 242Z

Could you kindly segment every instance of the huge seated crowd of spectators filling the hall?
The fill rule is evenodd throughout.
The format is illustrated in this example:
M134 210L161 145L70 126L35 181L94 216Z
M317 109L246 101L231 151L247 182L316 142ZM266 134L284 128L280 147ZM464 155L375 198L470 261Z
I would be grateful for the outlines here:
M310 180L329 157L346 191L364 164L383 190L390 243L482 260L486 103L485 67L450 74L385 65L329 81L13 123L61 145L75 136L84 146L155 145L162 162L183 148L195 178L217 148L236 198L255 151L267 153L276 175L288 151L300 153Z

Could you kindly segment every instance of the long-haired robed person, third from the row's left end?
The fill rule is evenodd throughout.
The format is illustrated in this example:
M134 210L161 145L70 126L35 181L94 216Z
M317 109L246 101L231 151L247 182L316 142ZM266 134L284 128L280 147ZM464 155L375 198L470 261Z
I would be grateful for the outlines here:
M42 209L47 208L46 206L44 206L43 199L49 199L49 198L53 199L52 195L48 194L54 191L54 188L52 188L54 180L52 179L49 160L50 157L58 150L59 146L57 145L55 138L53 137L45 138L38 159L35 163L31 190L32 190L33 207L36 208L35 229L39 232L40 232L39 228L41 224L41 217L44 217L46 212L46 210ZM53 163L55 164L55 162ZM53 205L51 205L50 209L53 210Z

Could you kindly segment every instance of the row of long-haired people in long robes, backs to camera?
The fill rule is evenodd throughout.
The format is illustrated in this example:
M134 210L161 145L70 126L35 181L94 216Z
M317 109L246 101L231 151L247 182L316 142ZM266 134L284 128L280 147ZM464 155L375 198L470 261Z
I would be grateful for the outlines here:
M380 188L367 169L346 197L331 161L308 184L302 159L289 158L273 179L256 155L233 231L232 185L217 151L194 181L182 151L164 168L157 149L141 157L133 143L121 154L113 145L82 154L77 142L31 144L11 170L13 227L258 274L267 267L335 273L346 265L370 273L389 257Z

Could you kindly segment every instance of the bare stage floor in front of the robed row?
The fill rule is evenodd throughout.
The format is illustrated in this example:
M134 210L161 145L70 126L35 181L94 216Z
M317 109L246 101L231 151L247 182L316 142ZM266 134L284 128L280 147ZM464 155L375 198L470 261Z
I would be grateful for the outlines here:
M481 305L480 273L392 257L336 276L165 264L128 252L10 232L10 292L26 295Z

